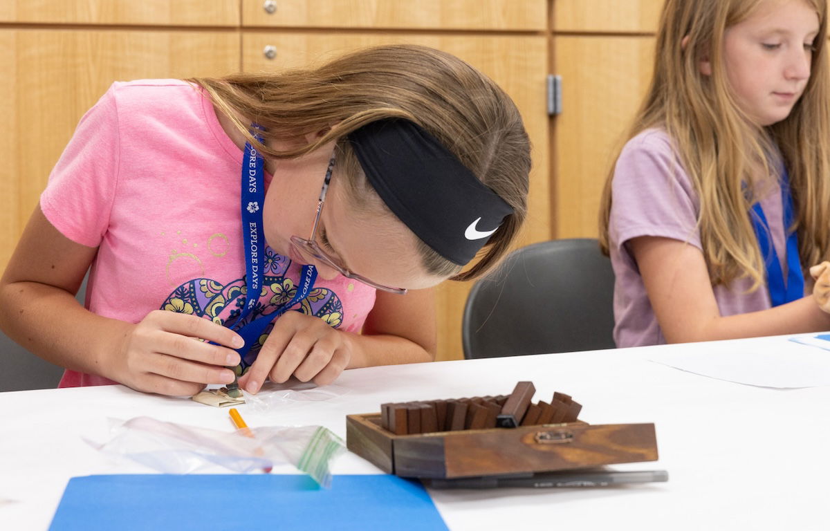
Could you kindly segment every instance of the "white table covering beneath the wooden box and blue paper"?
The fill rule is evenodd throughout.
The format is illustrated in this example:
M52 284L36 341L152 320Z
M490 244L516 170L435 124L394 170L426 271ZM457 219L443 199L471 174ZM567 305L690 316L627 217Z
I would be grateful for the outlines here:
M729 343L761 352L780 340ZM530 380L535 401L568 393L583 404L580 419L590 424L654 422L660 460L613 467L668 470L669 481L600 489L431 490L450 529L830 529L830 387L752 387L649 361L678 350L706 355L710 347L354 369L336 382L348 389L340 397L239 410L249 426L320 424L345 437L347 414L377 412L381 402L506 394L515 382ZM0 400L0 500L13 500L0 502L0 529L46 529L72 476L154 472L114 460L81 439L105 433L108 417L231 429L227 409L122 386L2 392ZM334 463L335 474L378 471L348 452Z

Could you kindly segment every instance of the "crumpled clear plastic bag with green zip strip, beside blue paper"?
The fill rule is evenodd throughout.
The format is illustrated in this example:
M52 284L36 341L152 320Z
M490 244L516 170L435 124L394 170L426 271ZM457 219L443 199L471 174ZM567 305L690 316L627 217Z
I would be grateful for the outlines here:
M263 426L251 428L250 437L150 417L110 421L109 441L86 442L167 474L192 474L212 465L244 474L287 463L328 488L330 463L345 450L343 440L323 426Z

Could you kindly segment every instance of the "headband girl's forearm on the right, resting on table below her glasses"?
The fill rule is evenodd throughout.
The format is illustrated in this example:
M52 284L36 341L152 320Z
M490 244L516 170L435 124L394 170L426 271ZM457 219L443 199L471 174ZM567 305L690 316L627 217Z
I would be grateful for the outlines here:
M343 334L349 334L344 332ZM347 368L422 363L435 360L435 352L418 343L389 334L349 334L352 355Z

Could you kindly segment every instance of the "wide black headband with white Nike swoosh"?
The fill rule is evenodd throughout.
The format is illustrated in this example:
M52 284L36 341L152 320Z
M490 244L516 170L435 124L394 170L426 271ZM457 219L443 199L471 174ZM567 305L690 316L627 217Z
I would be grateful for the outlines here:
M406 119L349 134L378 196L427 246L466 265L513 209L438 140Z

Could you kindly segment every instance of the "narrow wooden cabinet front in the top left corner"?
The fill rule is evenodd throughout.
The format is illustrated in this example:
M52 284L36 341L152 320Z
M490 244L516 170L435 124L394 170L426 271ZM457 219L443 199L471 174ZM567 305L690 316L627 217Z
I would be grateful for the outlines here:
M239 26L238 0L2 0L0 22Z

